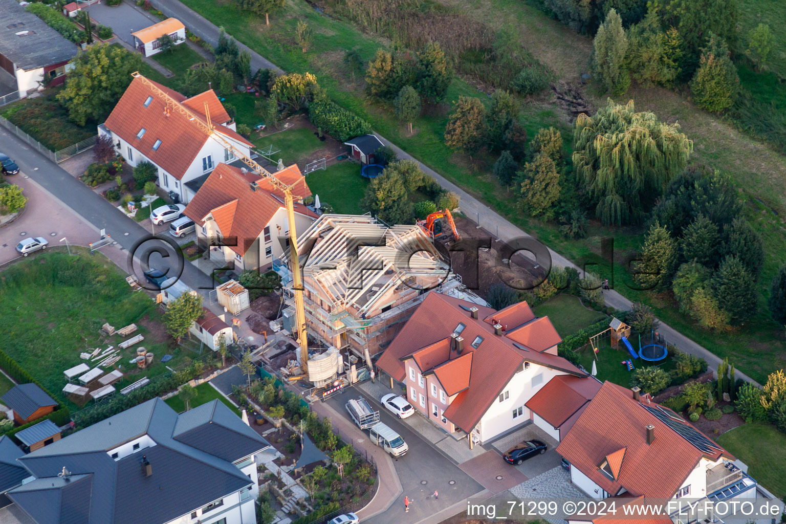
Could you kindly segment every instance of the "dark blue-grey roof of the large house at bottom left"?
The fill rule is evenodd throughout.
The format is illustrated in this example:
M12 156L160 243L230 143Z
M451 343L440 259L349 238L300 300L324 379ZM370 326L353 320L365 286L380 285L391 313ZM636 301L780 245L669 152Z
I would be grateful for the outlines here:
M52 506L53 495L43 490L30 492L39 493L33 496L28 489L13 489L9 497L38 524L160 524L243 489L250 481L237 466L212 454L207 445L196 447L174 438L178 431L198 433L208 426L211 437L230 450L240 449L242 444L247 446L244 449L254 447L248 453L252 454L267 447L259 435L255 439L248 435L246 430L253 430L226 405L216 402L178 416L164 401L154 398L21 457L21 464L38 478L35 482L56 479L63 467L72 478L90 475L90 493L68 496L72 520L61 518L56 511L60 506ZM106 453L144 434L155 445L120 460ZM238 452L222 454L232 453ZM150 477L143 470L143 456L152 466ZM51 487L58 487L57 482ZM65 500L64 495L59 497L58 501ZM50 506L49 512L42 513L40 508Z

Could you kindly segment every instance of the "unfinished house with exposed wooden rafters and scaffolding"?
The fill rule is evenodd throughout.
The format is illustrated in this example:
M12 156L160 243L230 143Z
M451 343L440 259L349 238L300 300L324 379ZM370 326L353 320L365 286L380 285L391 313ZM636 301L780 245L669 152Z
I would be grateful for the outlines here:
M298 245L309 334L366 362L391 342L429 290L486 304L450 272L417 225L388 226L368 214L323 214ZM274 263L274 269L291 290L286 266ZM286 328L292 308L284 316Z

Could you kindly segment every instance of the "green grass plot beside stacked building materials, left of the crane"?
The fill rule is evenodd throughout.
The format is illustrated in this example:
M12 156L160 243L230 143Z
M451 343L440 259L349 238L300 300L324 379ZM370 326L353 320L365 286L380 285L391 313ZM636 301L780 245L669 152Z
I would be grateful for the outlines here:
M166 372L160 363L164 354L173 355L172 367L191 361L190 352L174 346L166 335L160 310L149 295L131 291L119 269L102 255L91 257L81 247L71 250L79 255L39 251L0 273L5 280L0 288L0 349L61 400L66 400L61 395L63 371L84 362L80 353L118 347L123 341L101 334L105 322L116 328L136 323L137 333L145 336L142 344L121 351L116 366L126 377L115 384L117 389ZM128 363L140 345L156 355L156 364L145 370Z

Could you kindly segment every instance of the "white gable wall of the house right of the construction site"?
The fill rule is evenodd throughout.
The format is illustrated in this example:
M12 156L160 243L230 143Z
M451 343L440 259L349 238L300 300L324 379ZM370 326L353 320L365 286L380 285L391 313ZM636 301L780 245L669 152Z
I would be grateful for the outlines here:
M516 373L501 390L501 395L505 398L502 401L495 398L476 426L474 433L480 442L490 441L530 420L530 410L524 404L557 375L567 373L537 364L530 364L528 368ZM516 416L513 416L514 410Z

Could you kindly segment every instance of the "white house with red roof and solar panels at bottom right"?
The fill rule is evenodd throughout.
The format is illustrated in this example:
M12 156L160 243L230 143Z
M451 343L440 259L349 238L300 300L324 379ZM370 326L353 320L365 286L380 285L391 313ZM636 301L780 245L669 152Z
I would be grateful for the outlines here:
M571 464L571 482L589 497L682 500L756 497L756 481L734 456L638 388L606 382L556 448ZM586 521L571 521L586 522Z

